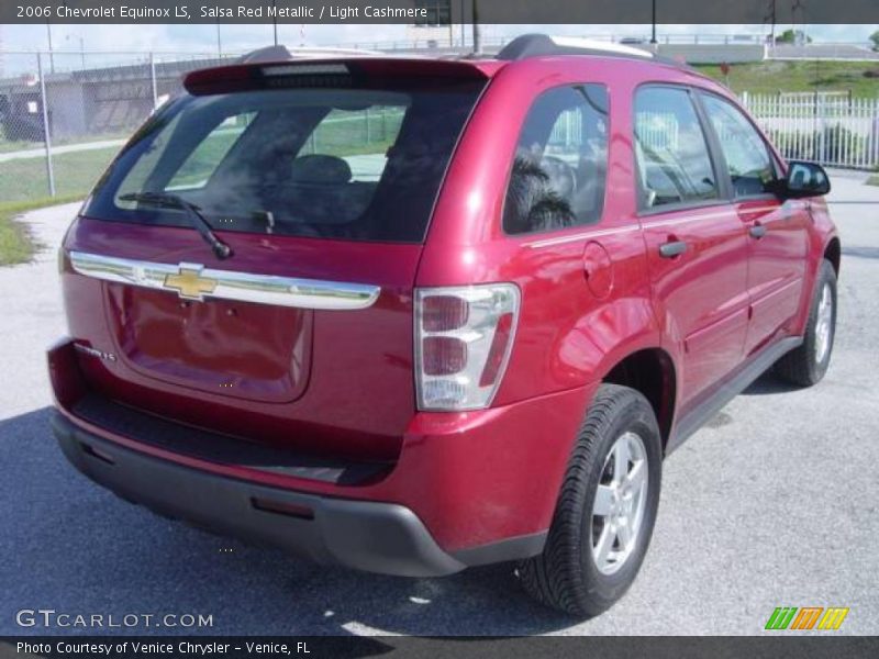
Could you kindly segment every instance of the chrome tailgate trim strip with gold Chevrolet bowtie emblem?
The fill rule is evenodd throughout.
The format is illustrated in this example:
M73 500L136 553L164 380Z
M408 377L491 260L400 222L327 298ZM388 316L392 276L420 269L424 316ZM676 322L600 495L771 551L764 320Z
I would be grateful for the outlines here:
M381 292L380 287L364 283L215 270L200 264L173 266L84 252L70 252L70 264L75 271L86 277L168 291L198 301L214 298L297 309L351 311L371 306ZM168 277L183 273L193 282L203 283L203 288L197 287L198 290L187 294L167 283Z

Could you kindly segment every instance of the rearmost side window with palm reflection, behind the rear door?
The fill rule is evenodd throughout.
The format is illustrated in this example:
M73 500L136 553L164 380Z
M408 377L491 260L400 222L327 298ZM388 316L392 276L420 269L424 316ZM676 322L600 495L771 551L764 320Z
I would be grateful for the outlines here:
M601 219L608 169L608 91L602 85L544 92L516 146L503 209L510 234Z

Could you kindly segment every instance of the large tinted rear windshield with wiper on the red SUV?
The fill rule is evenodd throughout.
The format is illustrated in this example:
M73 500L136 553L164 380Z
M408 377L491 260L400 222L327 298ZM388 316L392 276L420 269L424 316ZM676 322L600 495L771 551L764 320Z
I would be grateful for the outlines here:
M183 96L141 129L85 214L190 226L175 208L121 199L164 192L219 231L421 242L481 87Z

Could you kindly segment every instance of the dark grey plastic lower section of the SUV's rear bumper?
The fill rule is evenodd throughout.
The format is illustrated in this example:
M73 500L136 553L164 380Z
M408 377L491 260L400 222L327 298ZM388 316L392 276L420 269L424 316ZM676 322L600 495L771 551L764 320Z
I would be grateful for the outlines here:
M190 469L102 439L58 412L52 428L67 459L94 482L208 530L369 572L436 577L466 567L402 505L314 496Z

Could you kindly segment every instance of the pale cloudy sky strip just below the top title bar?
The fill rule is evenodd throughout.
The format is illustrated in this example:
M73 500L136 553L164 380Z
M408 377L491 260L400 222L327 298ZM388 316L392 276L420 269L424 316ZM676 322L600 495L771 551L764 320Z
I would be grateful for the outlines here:
M778 31L790 27L779 25ZM866 42L879 25L809 25L806 32L815 41ZM301 31L304 30L304 38ZM649 25L486 25L483 34L509 36L523 32L576 35L648 35ZM759 34L765 25L660 25L664 34ZM56 51L80 49L80 40L87 51L162 51L215 53L215 25L53 25L52 41ZM405 25L278 25L279 42L288 46L353 45L355 43L394 41L407 38ZM455 31L456 35L459 29ZM222 48L226 52L244 52L271 43L272 26L223 25L220 27ZM0 49L46 49L47 29L36 25L0 25Z

